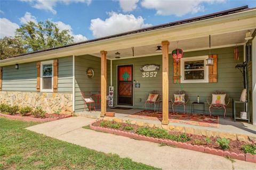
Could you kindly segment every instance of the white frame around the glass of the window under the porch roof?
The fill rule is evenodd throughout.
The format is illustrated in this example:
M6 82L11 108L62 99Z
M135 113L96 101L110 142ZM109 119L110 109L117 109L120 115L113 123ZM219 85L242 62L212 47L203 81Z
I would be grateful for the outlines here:
M181 58L180 60L180 75L181 83L209 83L209 68L206 66L208 59L208 55L203 56L193 56L193 57L187 57L187 58ZM197 79L197 80L185 80L184 71L185 71L185 62L186 61L197 61L197 60L204 60L204 79Z

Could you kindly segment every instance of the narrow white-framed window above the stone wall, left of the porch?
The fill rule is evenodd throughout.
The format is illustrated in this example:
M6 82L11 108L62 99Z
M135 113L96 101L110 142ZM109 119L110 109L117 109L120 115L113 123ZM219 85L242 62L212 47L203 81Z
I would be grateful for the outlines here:
M53 60L41 62L41 91L53 92Z

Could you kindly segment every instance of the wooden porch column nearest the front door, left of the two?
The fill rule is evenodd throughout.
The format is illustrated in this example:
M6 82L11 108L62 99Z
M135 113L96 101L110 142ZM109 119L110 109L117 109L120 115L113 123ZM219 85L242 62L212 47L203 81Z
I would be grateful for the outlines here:
M100 76L100 93L101 93L101 113L104 117L107 110L107 51L100 52L101 57L101 76Z

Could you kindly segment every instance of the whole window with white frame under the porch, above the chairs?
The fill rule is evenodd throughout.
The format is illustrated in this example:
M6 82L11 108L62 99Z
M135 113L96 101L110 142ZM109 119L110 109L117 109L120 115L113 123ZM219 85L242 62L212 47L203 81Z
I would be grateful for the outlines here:
M194 56L181 59L181 83L208 83L208 67L205 56Z

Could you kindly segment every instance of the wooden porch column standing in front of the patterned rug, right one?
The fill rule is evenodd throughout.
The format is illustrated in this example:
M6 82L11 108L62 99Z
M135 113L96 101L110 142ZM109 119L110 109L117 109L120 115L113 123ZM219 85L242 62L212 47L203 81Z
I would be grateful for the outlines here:
M169 41L162 42L163 52L163 120L162 124L169 124Z

